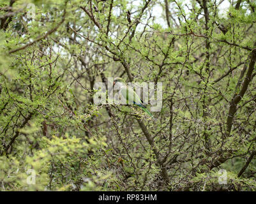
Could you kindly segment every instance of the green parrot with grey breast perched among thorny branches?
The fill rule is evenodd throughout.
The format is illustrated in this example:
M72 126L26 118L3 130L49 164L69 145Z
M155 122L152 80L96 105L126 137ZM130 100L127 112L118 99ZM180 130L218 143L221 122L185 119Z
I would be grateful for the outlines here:
M147 113L147 115L149 115L152 119L154 118L153 115L147 110L146 106L143 105L143 101L142 99L140 99L140 97L138 96L138 94L133 91L133 89L131 87L128 87L125 84L125 81L123 78L120 77L116 77L114 78L114 82L113 85L120 83L120 92L121 95L123 96L124 99L126 99L126 103L127 104L133 104L133 105L137 105L139 106L144 112ZM133 97L132 97L133 94Z

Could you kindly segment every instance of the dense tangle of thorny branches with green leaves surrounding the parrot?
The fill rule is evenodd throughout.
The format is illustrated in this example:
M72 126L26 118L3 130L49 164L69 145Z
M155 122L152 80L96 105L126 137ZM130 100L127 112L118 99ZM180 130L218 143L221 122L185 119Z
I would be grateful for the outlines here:
M224 2L0 0L0 190L255 191L256 4ZM163 82L155 120L107 77Z

